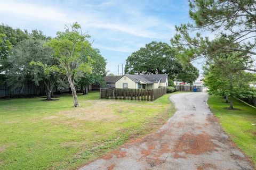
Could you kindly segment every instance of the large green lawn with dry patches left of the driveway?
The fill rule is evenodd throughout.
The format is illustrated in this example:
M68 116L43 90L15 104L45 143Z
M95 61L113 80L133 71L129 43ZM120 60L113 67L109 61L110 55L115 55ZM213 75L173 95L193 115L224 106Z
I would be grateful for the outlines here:
M99 92L58 101L0 100L0 169L73 169L161 127L174 112L153 102L99 100Z

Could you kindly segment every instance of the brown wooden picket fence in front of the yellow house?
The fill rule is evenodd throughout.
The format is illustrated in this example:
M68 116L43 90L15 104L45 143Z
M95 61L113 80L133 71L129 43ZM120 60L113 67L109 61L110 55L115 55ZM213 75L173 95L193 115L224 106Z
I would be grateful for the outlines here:
M100 99L153 101L165 94L166 87L158 89L100 89Z

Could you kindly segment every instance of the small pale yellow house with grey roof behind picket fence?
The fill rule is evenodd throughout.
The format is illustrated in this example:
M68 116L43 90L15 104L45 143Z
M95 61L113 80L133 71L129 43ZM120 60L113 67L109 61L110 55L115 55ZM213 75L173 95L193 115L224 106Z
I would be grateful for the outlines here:
M168 86L167 74L124 74L115 82L115 87L121 89L157 89L163 86Z

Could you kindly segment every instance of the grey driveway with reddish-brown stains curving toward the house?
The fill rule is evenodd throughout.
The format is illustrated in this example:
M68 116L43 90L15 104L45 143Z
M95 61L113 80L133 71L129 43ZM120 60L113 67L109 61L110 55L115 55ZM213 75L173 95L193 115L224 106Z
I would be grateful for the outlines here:
M81 169L254 169L223 133L204 92L175 94L170 100L177 112L161 129Z

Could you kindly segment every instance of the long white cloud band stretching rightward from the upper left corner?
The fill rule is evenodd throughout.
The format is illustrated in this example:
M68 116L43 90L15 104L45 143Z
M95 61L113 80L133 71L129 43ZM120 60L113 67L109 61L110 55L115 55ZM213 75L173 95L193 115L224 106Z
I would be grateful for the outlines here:
M100 6L109 6L113 4L106 2L100 4ZM105 12L97 11L97 6L91 6L89 10L83 12L76 12L72 10L65 10L59 7L50 7L39 4L31 4L24 2L0 2L0 13L8 14L9 17L21 18L22 20L34 21L34 22L59 22L62 24L70 24L78 21L89 28L108 29L123 33L128 33L132 36L142 38L162 38L169 39L171 30L174 30L174 26L168 23L164 23L157 18L150 16L144 16L138 11L131 14L131 9L124 8L123 13L131 15L130 18L125 21L120 21L115 18L108 18ZM56 23L54 23L56 24ZM161 29L159 29L161 28Z

